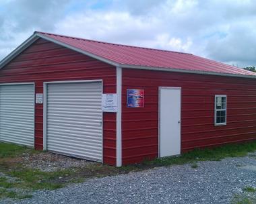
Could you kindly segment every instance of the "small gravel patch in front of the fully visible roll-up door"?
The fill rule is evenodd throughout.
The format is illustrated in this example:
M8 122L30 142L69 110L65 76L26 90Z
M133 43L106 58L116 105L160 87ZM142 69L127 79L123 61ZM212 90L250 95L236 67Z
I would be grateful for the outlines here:
M94 162L79 158L71 158L51 152L42 152L38 154L27 154L20 158L22 164L28 168L36 168L44 172L63 170L71 167L84 167Z

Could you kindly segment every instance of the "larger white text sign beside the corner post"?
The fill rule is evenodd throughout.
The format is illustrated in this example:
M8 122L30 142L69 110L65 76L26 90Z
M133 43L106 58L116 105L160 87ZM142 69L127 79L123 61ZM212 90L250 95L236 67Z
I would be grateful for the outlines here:
M102 94L102 111L113 113L117 112L117 94Z

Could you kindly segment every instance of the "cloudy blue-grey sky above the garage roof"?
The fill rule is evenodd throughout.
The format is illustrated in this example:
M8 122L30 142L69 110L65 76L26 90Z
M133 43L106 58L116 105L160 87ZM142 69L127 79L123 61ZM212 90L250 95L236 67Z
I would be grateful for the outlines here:
M35 30L256 65L256 1L1 0L0 60Z

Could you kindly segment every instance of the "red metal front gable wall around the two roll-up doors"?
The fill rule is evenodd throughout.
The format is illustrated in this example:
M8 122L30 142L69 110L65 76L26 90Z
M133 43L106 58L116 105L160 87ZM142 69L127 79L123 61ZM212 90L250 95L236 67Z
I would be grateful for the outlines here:
M116 68L39 39L0 70L0 83L35 83L43 93L46 81L102 79L103 93L116 93ZM103 114L104 163L116 163L116 114ZM35 105L35 148L43 148L43 105Z

